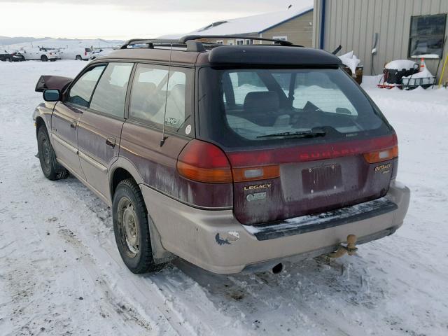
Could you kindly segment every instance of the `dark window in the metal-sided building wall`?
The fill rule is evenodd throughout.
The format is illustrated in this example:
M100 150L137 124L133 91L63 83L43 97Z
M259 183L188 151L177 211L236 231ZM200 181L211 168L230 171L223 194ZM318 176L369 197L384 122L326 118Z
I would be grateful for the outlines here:
M442 57L446 22L446 14L413 16L408 56L433 54Z

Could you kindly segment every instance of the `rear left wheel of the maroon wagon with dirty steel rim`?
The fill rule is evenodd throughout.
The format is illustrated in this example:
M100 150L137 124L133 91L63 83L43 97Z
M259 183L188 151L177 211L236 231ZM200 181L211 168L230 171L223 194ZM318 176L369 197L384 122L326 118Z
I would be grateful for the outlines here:
M133 179L118 183L112 202L113 232L118 251L132 273L157 272L149 235L148 211L139 186Z

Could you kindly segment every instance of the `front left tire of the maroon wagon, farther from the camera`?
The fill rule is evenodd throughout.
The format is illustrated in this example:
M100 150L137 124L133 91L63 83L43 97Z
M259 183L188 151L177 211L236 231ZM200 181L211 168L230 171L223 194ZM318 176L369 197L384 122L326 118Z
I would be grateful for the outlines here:
M37 148L42 172L47 179L56 181L69 176L69 171L57 163L55 151L53 151L50 137L48 137L47 129L44 126L39 127L37 131Z

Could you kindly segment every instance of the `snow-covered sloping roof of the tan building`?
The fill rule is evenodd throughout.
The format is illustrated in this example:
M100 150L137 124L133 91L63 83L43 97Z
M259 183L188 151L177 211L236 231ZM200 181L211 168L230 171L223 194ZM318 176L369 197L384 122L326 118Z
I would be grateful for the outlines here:
M288 10L281 10L274 13L246 16L214 22L211 25L202 27L189 34L201 35L231 35L231 34L260 34L263 31L272 29L284 22L298 18L301 15L313 10L313 0L297 0Z

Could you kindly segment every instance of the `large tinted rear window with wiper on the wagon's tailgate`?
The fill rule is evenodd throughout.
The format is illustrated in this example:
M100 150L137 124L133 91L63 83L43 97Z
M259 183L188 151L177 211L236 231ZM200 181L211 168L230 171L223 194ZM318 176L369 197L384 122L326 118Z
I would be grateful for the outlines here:
M205 93L207 100L200 102L201 134L221 143L362 137L388 131L381 113L339 68L204 68L200 82L208 83L200 83L200 97ZM214 111L219 111L223 130L217 130Z

